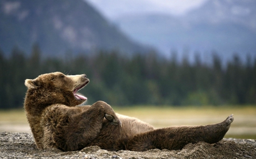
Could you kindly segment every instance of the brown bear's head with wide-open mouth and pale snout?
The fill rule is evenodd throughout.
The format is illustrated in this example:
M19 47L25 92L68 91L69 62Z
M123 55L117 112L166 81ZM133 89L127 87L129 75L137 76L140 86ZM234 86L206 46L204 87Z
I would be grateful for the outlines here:
M61 72L43 74L36 79L26 79L27 93L24 104L41 108L52 104L80 105L87 98L76 93L88 83L89 79L85 74L72 76Z

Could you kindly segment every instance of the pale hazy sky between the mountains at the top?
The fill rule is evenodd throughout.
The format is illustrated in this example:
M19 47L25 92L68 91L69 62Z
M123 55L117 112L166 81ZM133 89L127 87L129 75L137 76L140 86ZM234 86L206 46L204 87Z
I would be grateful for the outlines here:
M97 8L106 18L114 20L125 14L159 12L182 15L208 0L85 0Z

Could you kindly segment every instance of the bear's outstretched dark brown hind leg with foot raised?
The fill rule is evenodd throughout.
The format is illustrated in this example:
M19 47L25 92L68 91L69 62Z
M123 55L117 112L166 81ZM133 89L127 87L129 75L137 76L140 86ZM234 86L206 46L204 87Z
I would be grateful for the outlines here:
M148 149L182 149L189 143L205 141L217 143L225 136L233 122L233 115L230 115L224 122L209 124L206 126L177 126L152 130L138 134L126 144L126 150L147 151Z

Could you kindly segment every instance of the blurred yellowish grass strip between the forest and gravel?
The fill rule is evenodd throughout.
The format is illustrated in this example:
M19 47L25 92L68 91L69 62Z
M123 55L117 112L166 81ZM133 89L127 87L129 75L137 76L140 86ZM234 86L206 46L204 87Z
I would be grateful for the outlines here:
M224 121L230 114L234 114L234 122L225 137L256 139L256 106L113 108L116 113L136 117L155 128L218 123ZM0 132L2 131L30 132L24 110L1 110Z

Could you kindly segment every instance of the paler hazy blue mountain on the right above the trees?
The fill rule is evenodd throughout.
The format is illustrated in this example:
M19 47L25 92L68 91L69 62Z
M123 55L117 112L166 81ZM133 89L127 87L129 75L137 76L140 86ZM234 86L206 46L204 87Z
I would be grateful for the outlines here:
M183 16L163 14L126 15L115 20L123 32L143 44L153 45L170 56L206 61L216 51L225 61L234 53L256 57L256 1L209 0Z

